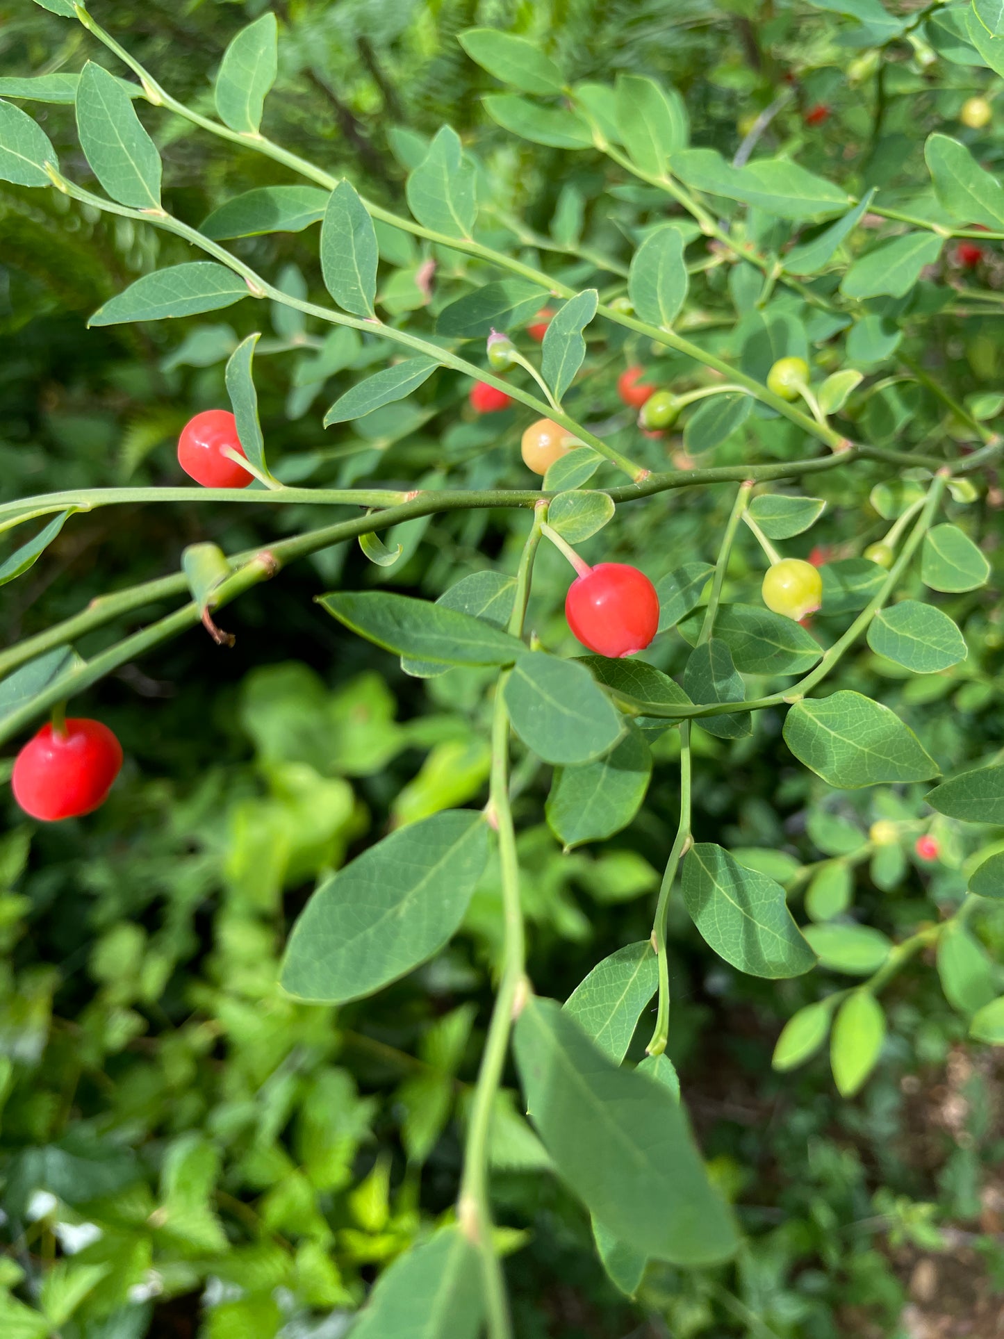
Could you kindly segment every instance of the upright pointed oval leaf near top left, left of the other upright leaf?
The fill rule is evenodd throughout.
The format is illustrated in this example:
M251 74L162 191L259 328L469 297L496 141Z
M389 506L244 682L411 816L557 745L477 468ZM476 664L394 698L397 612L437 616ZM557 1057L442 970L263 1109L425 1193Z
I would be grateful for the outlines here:
M76 129L94 175L120 205L161 208L161 155L119 79L88 60L76 90Z

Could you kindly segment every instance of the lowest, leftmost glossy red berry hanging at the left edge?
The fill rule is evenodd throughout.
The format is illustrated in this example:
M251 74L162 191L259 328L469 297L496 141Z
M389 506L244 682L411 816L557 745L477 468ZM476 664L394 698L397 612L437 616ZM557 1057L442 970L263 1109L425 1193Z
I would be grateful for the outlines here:
M32 818L79 818L103 805L122 767L122 744L100 720L43 726L15 759L13 798Z

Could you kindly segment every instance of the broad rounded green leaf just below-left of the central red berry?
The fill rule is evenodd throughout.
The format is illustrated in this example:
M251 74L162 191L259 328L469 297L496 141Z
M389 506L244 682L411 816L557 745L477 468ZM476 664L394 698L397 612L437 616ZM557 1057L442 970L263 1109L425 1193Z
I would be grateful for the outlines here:
M585 665L545 651L530 651L517 660L506 680L505 699L513 728L545 762L592 762L620 739L624 728Z

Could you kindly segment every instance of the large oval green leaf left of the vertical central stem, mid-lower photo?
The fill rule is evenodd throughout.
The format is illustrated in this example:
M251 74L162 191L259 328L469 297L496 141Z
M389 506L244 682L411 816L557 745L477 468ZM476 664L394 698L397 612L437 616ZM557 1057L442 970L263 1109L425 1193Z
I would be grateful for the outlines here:
M341 1004L406 976L454 936L487 856L487 823L470 809L384 837L313 893L286 945L282 988Z

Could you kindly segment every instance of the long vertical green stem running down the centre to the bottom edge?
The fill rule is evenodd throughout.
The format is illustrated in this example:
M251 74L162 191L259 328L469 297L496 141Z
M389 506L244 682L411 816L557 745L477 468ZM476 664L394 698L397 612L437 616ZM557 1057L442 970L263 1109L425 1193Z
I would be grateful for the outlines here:
M533 560L541 541L546 502L534 509L533 526L523 545L517 574L515 604L509 620L509 631L519 637L523 632L526 604L530 595ZM489 1339L511 1339L513 1322L509 1314L505 1277L491 1237L491 1204L489 1197L489 1157L491 1114L502 1082L513 1018L518 1012L521 990L525 990L526 943L523 912L519 900L519 861L515 849L515 828L509 799L509 711L505 686L509 671L498 678L495 707L491 724L491 782L489 815L498 832L498 853L502 873L503 944L502 976L495 1004L491 1010L489 1035L474 1089L467 1142L463 1154L463 1177L458 1201L462 1231L481 1252L485 1275L485 1310Z

